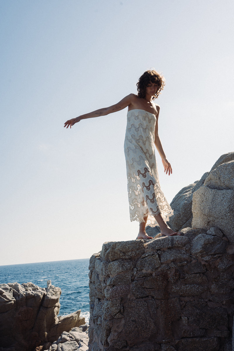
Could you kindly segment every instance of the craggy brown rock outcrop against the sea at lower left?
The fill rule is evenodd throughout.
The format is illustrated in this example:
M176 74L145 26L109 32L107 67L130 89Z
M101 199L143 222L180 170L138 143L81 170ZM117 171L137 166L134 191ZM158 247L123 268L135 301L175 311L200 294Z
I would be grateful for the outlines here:
M32 283L0 284L0 346L31 351L54 342L63 331L85 324L80 310L58 316L61 289L48 280L47 288Z

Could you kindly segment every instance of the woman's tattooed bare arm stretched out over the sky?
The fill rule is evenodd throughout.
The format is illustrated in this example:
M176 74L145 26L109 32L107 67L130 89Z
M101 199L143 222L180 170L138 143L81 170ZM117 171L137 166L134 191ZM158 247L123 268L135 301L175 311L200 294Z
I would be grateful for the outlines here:
M128 105L131 104L131 101L133 99L134 94L129 94L125 98L123 98L121 101L118 102L118 104L109 106L109 107L104 107L100 108L99 110L89 112L86 114L82 114L76 118L69 119L66 121L64 124L64 127L69 127L70 128L77 122L80 122L81 119L87 119L87 118L94 118L94 117L99 117L99 116L106 116L109 113L113 113L116 111L123 110L123 108L127 107Z

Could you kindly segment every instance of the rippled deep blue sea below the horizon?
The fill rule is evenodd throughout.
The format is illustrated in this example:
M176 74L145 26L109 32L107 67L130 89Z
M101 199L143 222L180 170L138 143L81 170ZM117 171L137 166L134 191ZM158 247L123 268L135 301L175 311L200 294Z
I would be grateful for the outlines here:
M89 258L0 266L0 284L29 283L47 287L47 280L62 290L59 316L81 310L89 321Z

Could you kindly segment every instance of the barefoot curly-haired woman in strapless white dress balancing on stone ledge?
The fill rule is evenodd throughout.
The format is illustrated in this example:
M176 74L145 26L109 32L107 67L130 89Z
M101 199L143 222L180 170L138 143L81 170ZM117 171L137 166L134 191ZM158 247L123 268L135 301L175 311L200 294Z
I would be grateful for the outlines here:
M123 110L128 106L125 135L125 158L128 178L130 219L138 220L138 239L152 239L145 231L146 225L160 227L164 236L178 235L166 224L173 211L161 191L154 144L162 159L164 172L172 173L171 164L163 151L158 135L158 98L165 82L163 76L154 70L142 74L137 83L138 95L129 94L118 104L83 114L65 122L70 128L81 119L105 116Z

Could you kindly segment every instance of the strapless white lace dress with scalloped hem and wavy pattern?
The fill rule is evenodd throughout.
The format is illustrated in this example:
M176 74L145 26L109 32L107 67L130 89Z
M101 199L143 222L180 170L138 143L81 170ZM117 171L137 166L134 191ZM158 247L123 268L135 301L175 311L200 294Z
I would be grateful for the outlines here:
M154 214L165 221L173 215L159 184L158 168L154 149L156 117L145 110L132 110L127 113L127 127L124 152L127 167L128 198L131 221L157 225Z

